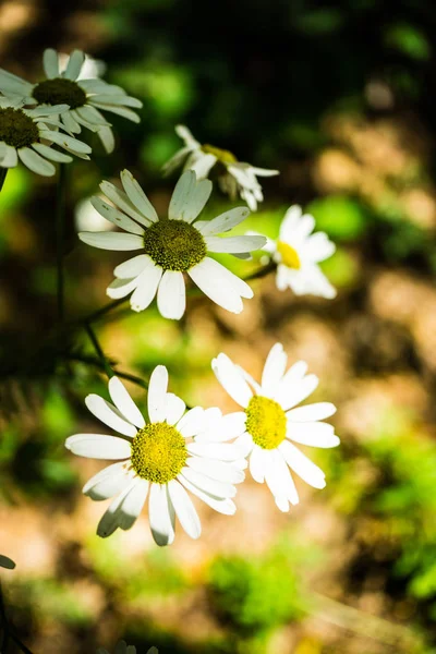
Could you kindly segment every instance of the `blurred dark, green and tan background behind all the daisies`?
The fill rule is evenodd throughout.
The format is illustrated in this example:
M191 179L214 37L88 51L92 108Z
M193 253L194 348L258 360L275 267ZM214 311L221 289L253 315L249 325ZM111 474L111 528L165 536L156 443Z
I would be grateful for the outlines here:
M113 117L69 168L69 318L107 303L122 255L78 242L101 229L87 198L128 167L165 211L162 164L177 123L256 166L266 201L250 229L276 237L302 204L337 243L327 302L253 282L240 316L192 298L185 319L123 308L96 323L117 370L168 366L187 403L235 409L210 371L223 351L259 375L271 344L320 377L341 446L307 452L327 488L298 482L289 514L251 480L233 518L201 511L204 533L158 549L146 512L95 535L101 504L81 495L101 464L66 436L98 431L84 397L106 393L86 334L56 319L56 180L12 170L0 194L0 552L10 617L37 653L432 654L436 652L436 13L431 0L3 0L0 65L31 81L46 47L81 48L144 102ZM111 116L112 119L112 116ZM238 203L235 203L238 204ZM239 203L240 204L240 203ZM216 190L208 215L231 206ZM245 226L246 227L246 226ZM226 259L242 275L258 263ZM140 405L144 391L129 388ZM10 651L13 651L11 647Z

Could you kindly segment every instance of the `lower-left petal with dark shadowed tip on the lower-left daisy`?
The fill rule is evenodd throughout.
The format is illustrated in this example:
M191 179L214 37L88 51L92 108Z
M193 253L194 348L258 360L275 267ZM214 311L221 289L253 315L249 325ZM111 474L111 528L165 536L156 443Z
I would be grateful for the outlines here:
M148 482L135 477L112 501L97 526L97 534L106 538L120 528L130 529L141 513L148 493Z

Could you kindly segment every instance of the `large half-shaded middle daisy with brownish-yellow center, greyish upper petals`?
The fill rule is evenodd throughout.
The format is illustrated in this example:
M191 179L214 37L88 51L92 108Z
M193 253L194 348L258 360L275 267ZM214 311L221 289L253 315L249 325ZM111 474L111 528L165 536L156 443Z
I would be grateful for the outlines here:
M265 244L265 238L217 234L230 230L247 217L245 207L237 207L213 220L197 220L211 192L209 180L196 181L192 170L178 181L168 210L159 218L149 199L129 170L121 172L120 191L109 182L101 191L114 205L99 197L93 205L105 218L124 232L81 232L80 239L102 250L141 250L142 254L114 269L116 280L108 287L110 298L125 298L132 291L133 311L143 311L157 293L157 305L166 318L179 319L185 311L184 275L214 302L232 313L243 308L242 298L252 298L245 281L230 272L209 252L244 255Z

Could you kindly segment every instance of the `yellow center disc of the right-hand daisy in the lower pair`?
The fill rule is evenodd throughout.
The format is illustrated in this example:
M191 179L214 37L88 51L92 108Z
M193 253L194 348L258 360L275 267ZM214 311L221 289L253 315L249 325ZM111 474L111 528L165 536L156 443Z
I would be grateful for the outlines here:
M253 396L245 409L246 431L263 449L275 449L284 439L287 417L278 402Z

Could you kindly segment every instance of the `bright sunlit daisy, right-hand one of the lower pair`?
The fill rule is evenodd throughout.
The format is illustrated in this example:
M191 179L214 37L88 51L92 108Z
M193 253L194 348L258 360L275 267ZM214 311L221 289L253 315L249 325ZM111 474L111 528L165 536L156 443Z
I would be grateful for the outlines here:
M267 483L281 511L289 510L289 502L299 502L289 468L314 488L326 485L324 472L293 444L322 448L339 445L334 427L319 422L336 412L334 404L319 402L295 408L315 390L318 379L306 375L304 361L286 372L287 360L282 346L276 343L266 360L261 384L226 354L213 361L218 382L243 408L243 413L230 414L245 421L245 433L234 445L250 456L253 479Z

